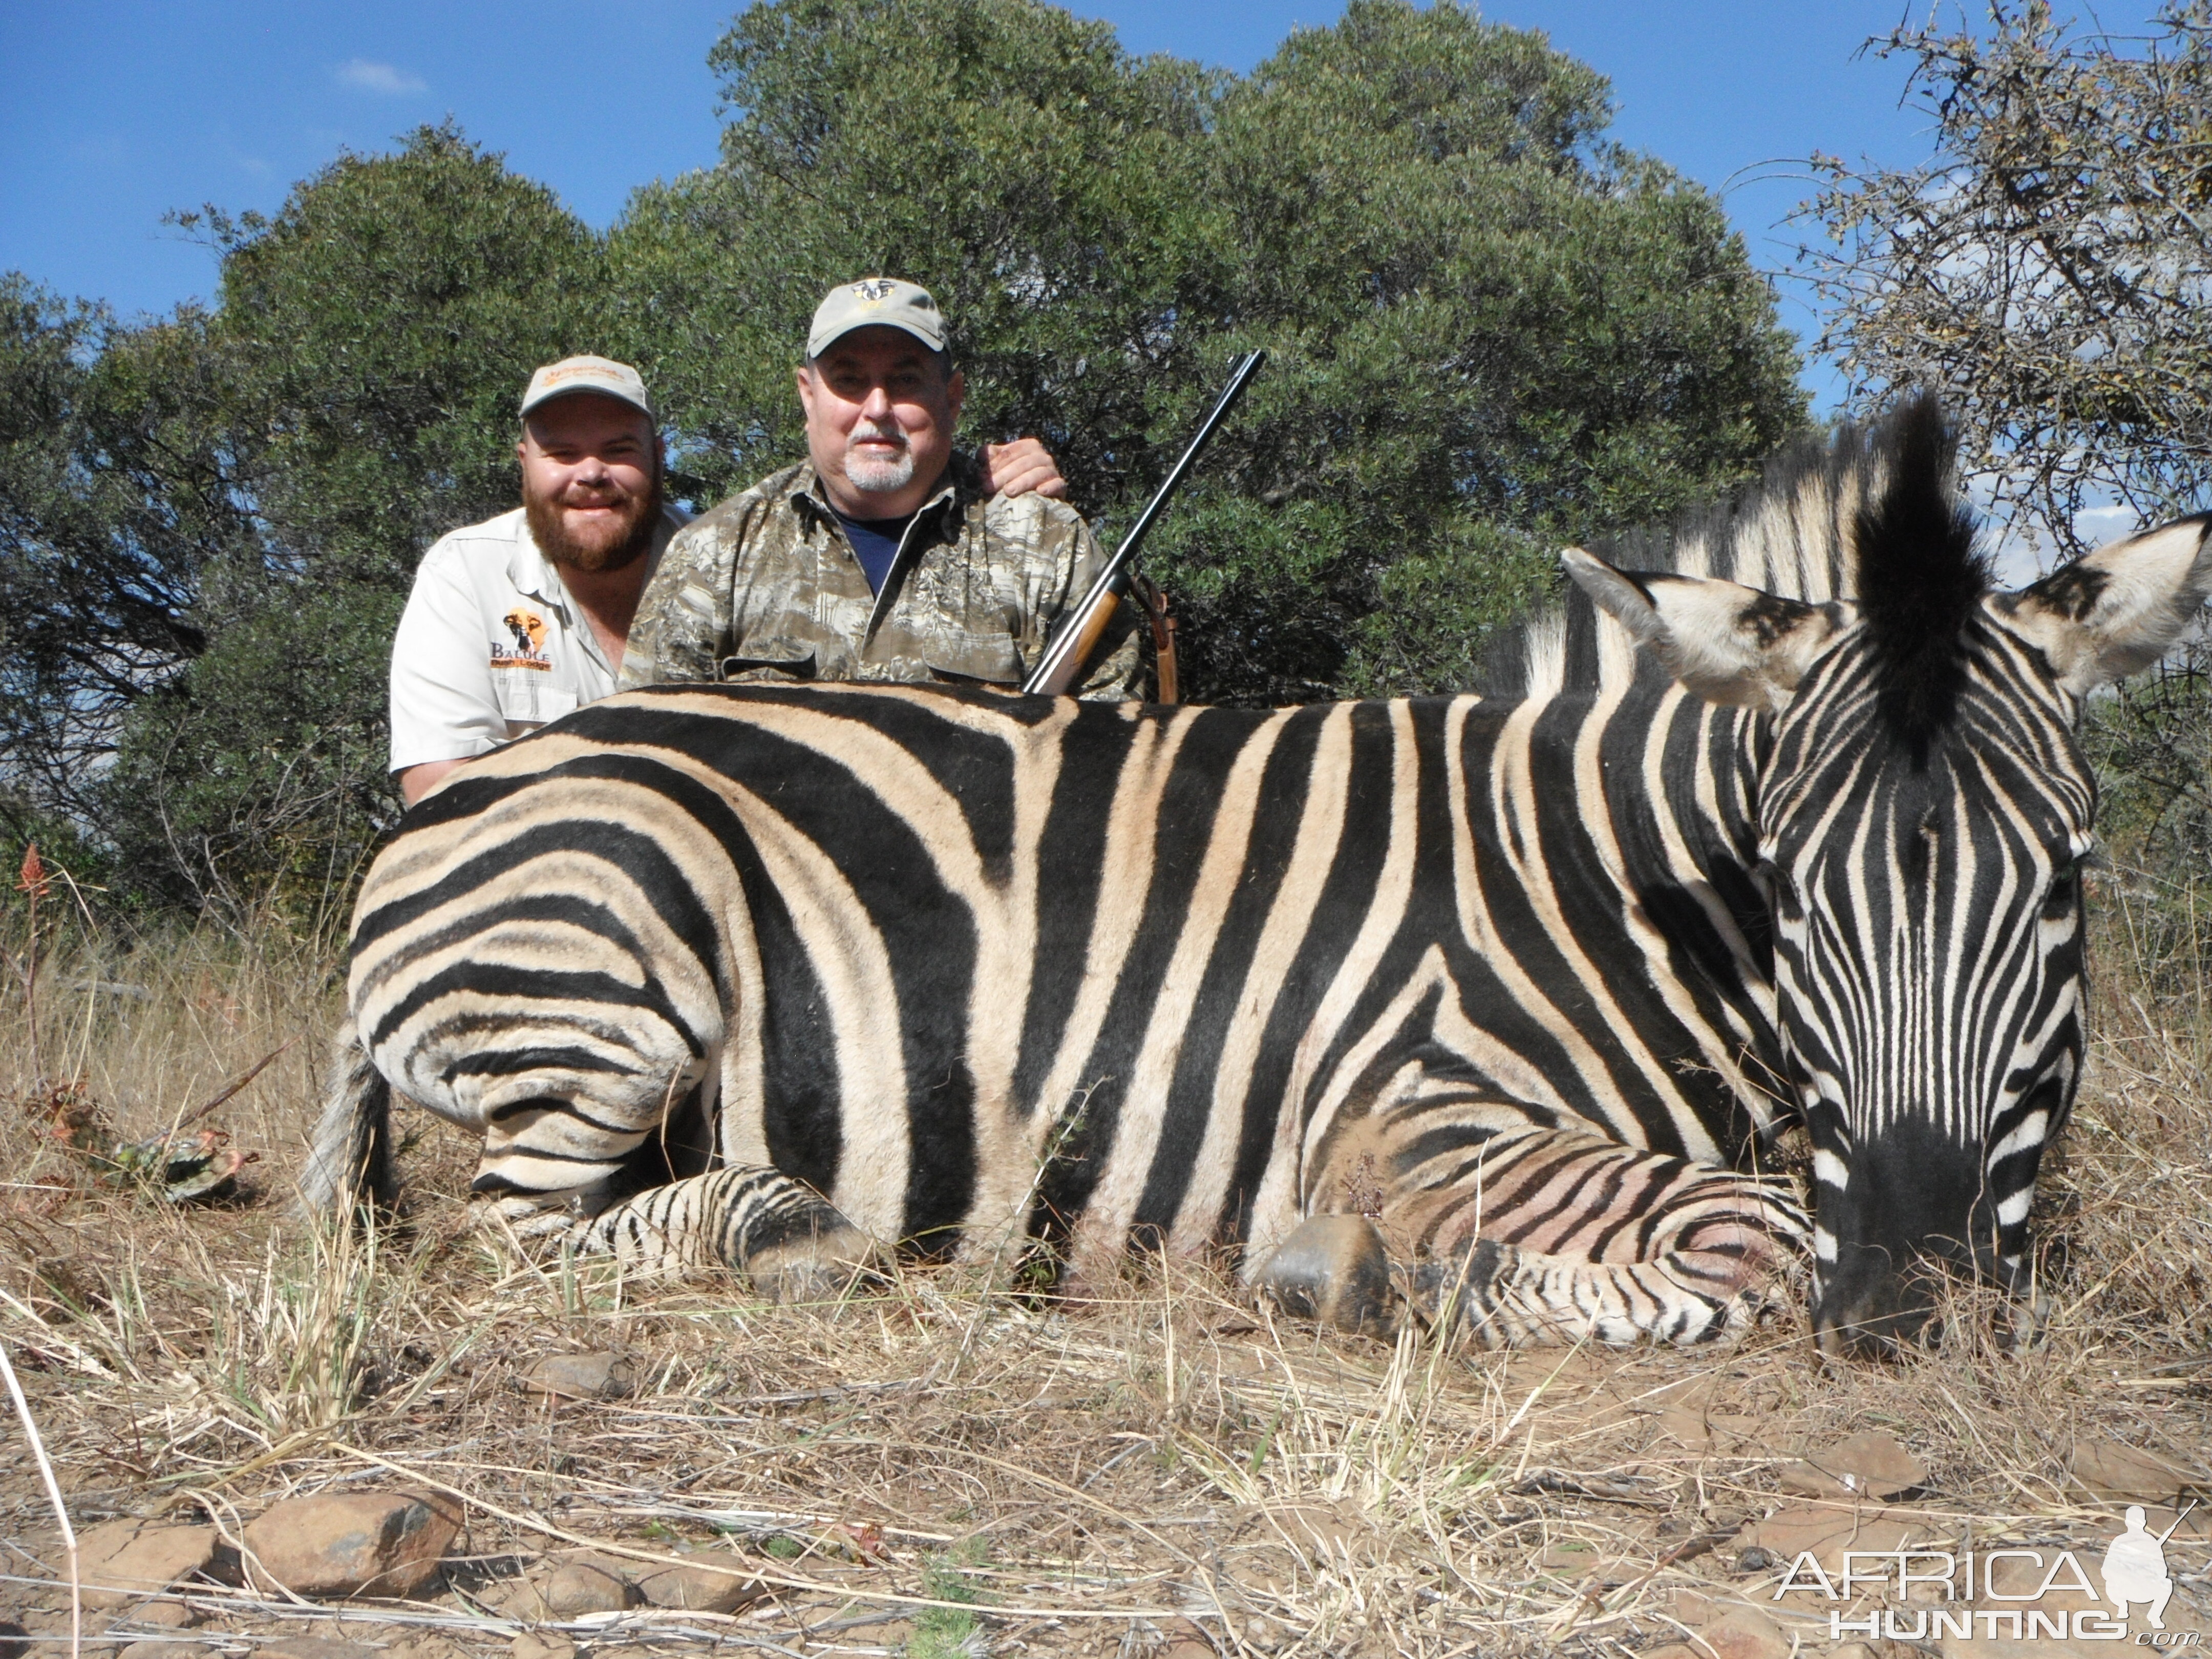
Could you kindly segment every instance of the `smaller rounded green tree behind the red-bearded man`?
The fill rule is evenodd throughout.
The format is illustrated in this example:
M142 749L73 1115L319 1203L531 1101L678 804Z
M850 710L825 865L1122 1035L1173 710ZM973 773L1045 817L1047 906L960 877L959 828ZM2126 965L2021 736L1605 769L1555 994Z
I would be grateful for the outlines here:
M608 332L591 228L451 124L341 155L272 219L184 223L223 254L257 507L319 580L405 593L429 542L513 507L522 383Z

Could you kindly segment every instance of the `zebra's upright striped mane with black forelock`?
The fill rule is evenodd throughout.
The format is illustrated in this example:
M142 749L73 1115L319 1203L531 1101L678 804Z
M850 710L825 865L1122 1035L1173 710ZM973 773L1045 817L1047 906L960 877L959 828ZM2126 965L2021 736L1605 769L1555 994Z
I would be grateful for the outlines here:
M1865 619L1893 670L1885 708L1902 730L1927 730L1958 686L1964 606L1989 586L1973 520L1951 491L1953 451L1940 405L1916 394L1876 420L1840 420L1787 442L1732 500L1590 542L1590 551L1624 571L1714 575L1787 599L1871 599ZM1661 672L1588 595L1564 584L1491 641L1475 688L1551 697Z

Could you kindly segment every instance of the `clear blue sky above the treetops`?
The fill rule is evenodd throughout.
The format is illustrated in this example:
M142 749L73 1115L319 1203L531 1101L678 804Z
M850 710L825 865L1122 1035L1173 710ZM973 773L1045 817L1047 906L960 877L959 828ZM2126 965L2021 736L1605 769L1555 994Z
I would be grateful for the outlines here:
M1075 11L1113 22L1130 51L1248 71L1340 7ZM606 226L635 186L714 159L706 53L732 13L732 0L4 0L0 270L124 314L164 312L215 288L212 254L164 212L272 210L341 148L385 148L447 115ZM1805 195L1790 159L1820 148L1905 164L1929 148L1924 117L1898 106L1905 66L1858 55L1907 15L1902 0L1498 0L1484 15L1544 29L1613 77L1619 139L1712 188L1734 177L1728 208L1765 268L1794 248L1778 223ZM2112 27L2130 20L2106 11ZM1787 319L1814 321L1796 301ZM1814 383L1827 392L1827 376Z

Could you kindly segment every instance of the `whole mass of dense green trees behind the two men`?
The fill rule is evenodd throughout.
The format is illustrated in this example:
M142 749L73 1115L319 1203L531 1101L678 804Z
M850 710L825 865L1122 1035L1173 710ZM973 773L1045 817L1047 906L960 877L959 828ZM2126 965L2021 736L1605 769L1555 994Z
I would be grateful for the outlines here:
M157 894L343 889L396 807L392 624L436 535L513 504L529 369L639 363L706 504L801 451L805 323L858 274L936 290L969 438L1044 436L1108 531L1272 354L1148 555L1208 699L1464 684L1559 540L1803 422L1712 197L1449 0L1354 0L1250 77L1035 0L772 0L712 66L719 166L606 237L447 126L184 217L212 312L0 290L0 787Z

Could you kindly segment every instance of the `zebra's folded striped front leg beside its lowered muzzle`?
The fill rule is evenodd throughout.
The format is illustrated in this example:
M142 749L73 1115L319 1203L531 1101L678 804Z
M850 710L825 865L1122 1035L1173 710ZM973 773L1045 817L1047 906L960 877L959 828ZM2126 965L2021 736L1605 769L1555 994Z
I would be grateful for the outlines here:
M1781 1179L1566 1130L1467 1152L1455 1181L1385 1210L1420 1245L1407 1301L1455 1340L1708 1343L1754 1325L1803 1263Z

